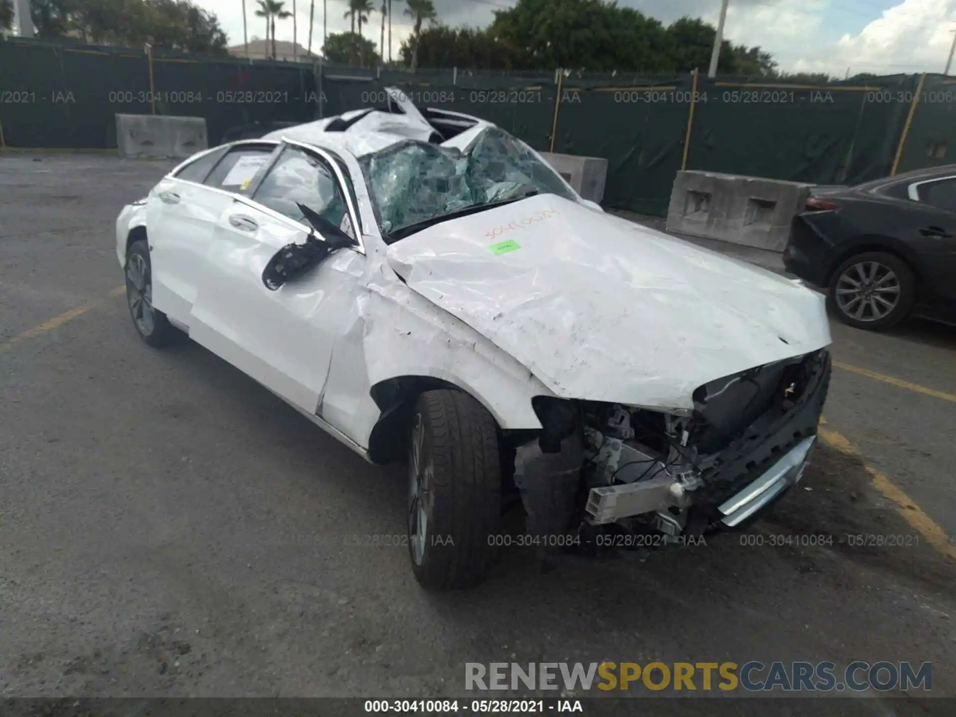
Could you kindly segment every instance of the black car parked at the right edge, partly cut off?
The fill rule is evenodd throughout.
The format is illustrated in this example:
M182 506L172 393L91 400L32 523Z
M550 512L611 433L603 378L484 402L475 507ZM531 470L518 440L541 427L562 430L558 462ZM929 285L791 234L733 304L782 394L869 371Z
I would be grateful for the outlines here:
M815 188L783 259L851 326L879 331L910 315L956 324L956 164Z

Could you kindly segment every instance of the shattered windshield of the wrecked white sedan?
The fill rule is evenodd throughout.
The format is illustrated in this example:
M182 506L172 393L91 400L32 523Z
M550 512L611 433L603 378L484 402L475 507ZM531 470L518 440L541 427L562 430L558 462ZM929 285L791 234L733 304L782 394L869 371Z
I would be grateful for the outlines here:
M531 148L497 127L466 151L402 141L359 160L385 241L464 209L480 209L532 194L575 194Z

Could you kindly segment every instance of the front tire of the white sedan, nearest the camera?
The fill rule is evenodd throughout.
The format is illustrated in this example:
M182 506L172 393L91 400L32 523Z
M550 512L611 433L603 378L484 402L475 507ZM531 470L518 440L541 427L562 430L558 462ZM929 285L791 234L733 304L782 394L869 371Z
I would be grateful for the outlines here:
M419 396L408 474L408 554L416 579L434 591L477 585L501 522L498 430L488 410L462 391Z

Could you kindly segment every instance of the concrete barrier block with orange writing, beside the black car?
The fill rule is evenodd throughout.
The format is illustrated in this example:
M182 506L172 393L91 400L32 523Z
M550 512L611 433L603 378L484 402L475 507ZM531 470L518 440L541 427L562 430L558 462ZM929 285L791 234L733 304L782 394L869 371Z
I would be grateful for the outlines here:
M793 215L810 189L802 182L717 172L678 172L667 208L667 231L783 251Z

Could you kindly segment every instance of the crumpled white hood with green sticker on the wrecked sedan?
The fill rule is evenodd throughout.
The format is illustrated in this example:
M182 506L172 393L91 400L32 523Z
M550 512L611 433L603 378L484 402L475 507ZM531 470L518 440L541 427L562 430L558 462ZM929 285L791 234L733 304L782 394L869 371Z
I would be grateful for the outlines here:
M821 295L550 194L426 228L388 262L563 398L690 408L831 340Z

